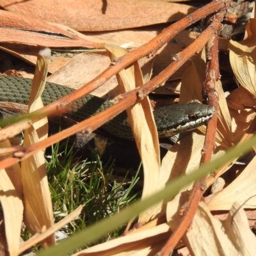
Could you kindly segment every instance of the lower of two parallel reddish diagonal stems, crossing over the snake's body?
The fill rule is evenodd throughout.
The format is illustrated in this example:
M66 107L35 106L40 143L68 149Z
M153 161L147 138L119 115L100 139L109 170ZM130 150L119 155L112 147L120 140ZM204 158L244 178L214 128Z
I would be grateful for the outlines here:
M12 166L12 164L22 161L23 159L28 158L38 152L38 150L42 150L46 147L51 146L54 143L57 143L60 140L64 140L68 136L72 134L76 134L77 132L83 131L90 134L95 129L99 128L102 124L106 123L109 119L118 115L129 106L134 104L136 100L138 100L137 93L140 95L139 97L147 96L149 92L154 90L158 86L159 83L163 83L168 77L170 77L173 72L175 72L181 65L183 65L191 56L193 56L196 52L201 51L202 47L207 43L209 38L220 29L219 22L212 22L209 28L205 29L205 31L193 42L189 45L184 51L180 52L177 56L177 61L171 63L166 69L164 69L158 76L154 77L154 79L150 80L148 83L144 84L141 87L138 87L131 92L127 92L122 95L123 99L105 111L102 111L96 116L92 116L79 124L73 125L72 127L65 129L64 131L59 132L58 134L54 134L51 137L47 138L44 141L40 141L26 148L17 147L17 153L19 156L15 156L17 153L13 154L13 157L9 157L0 162L1 168L6 168L8 166ZM0 150L0 152L3 150Z

